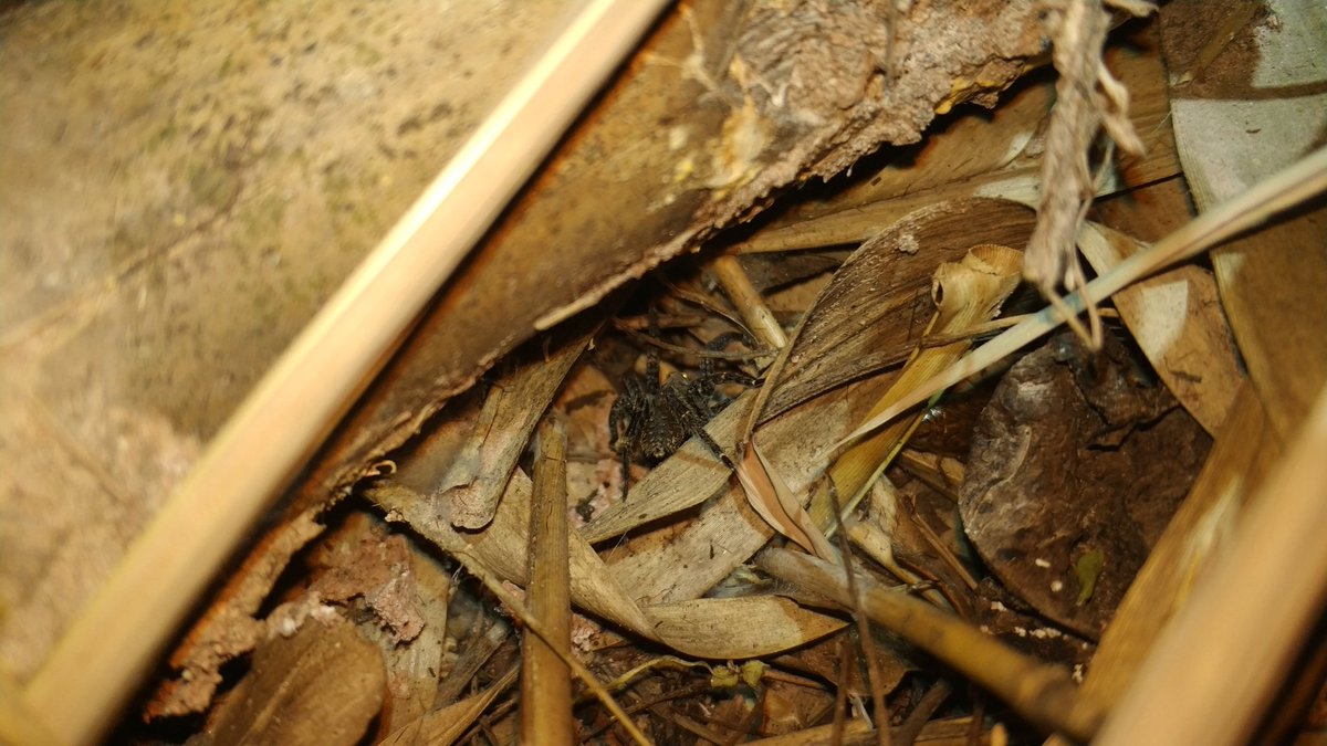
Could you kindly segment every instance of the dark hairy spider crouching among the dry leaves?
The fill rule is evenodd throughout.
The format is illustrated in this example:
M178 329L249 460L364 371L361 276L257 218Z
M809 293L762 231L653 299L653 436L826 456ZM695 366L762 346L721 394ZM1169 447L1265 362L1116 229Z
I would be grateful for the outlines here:
M719 352L739 335L721 335L705 345L705 352ZM705 426L726 404L718 386L726 382L755 385L744 373L715 370L714 358L701 356L695 374L677 372L660 382L660 361L653 352L645 364L645 376L632 373L622 381L622 392L608 413L608 431L613 450L622 463L622 496L630 486L630 463L658 463L682 447L693 435L733 469L733 459L705 431Z

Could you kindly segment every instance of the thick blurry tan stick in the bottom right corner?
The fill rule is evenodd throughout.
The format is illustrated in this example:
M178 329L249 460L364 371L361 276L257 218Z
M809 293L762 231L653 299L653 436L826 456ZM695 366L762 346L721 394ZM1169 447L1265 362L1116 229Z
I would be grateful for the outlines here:
M1327 388L1099 743L1247 743L1327 601Z

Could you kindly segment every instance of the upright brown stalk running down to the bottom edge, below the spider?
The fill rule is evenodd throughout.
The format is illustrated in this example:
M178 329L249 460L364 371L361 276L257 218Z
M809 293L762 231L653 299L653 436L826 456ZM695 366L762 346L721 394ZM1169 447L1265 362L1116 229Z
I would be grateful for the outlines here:
M561 656L571 653L572 601L567 547L567 433L545 417L539 423L529 510L529 613L548 632L525 631L522 642L520 742L571 743L572 681Z

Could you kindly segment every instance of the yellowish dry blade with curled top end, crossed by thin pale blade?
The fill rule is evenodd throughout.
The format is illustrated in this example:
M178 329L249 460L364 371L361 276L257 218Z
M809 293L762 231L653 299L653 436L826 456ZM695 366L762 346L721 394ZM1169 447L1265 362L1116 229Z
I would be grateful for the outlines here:
M1018 285L1022 256L1009 247L981 244L973 247L962 261L941 264L936 269L933 291L937 304L936 317L926 333L954 335L994 319ZM965 340L917 349L893 386L872 408L868 418L888 409L914 386L951 365L967 352L967 348L969 342ZM833 516L836 503L843 515L856 508L871 488L871 483L906 442L920 418L921 414L917 414L909 419L894 421L869 438L859 441L835 459L828 479L821 481L808 508L811 519L821 531L833 534L836 530L837 522ZM837 500L831 495L831 482L837 492Z

